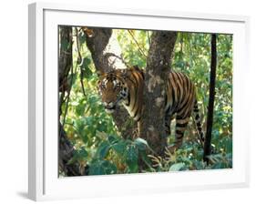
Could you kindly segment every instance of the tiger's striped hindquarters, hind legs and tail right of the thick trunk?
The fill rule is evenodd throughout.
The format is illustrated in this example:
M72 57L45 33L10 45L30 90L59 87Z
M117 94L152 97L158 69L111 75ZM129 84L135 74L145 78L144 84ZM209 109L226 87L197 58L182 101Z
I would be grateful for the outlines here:
M196 87L188 76L180 72L170 72L167 84L167 99L165 107L165 127L170 133L170 122L173 117L176 118L175 145L179 147L182 144L184 132L189 124L189 118L193 114L197 130L200 135L200 141L203 142L204 135L200 124L200 113L198 101L196 98Z

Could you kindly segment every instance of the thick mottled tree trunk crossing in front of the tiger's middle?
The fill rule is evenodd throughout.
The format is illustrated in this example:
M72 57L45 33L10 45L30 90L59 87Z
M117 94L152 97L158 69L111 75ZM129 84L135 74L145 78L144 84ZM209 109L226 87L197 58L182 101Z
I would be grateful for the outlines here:
M176 38L176 32L155 31L148 52L140 138L145 138L158 155L163 155L167 146L164 127L165 87Z

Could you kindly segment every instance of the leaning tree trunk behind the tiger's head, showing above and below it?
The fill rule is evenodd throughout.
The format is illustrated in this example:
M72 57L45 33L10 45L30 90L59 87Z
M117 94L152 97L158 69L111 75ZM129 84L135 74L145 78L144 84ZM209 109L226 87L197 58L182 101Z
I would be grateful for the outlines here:
M122 60L121 49L112 29L93 28L90 30L91 35L85 32L86 42L98 74L117 68L128 68ZM127 110L123 106L118 106L112 116L122 137L131 138L135 124L128 116Z

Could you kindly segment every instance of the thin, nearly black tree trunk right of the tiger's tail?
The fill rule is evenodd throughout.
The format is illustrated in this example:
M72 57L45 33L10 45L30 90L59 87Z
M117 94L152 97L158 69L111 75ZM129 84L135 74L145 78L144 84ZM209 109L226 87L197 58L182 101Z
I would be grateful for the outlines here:
M208 105L208 116L207 116L207 130L204 142L204 153L203 159L209 163L211 148L211 130L213 123L213 109L214 109L214 97L215 97L215 78L216 78L216 66L217 66L217 48L216 48L216 34L211 36L211 61L210 61L210 96Z

